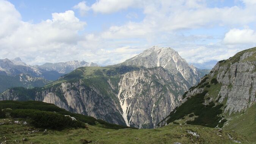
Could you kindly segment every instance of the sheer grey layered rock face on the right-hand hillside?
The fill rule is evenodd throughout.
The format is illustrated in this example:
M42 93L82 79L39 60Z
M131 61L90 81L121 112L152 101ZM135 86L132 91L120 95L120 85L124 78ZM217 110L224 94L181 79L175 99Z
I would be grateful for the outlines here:
M226 101L225 112L236 113L256 102L256 48L238 53L235 58L218 63L210 74L222 83L219 102ZM229 63L231 62L231 63Z

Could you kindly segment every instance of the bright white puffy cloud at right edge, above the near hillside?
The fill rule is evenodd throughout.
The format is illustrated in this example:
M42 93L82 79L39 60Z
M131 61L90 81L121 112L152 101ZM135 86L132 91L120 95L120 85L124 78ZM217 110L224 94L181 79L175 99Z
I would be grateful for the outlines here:
M251 29L232 29L225 34L223 40L226 44L256 44L256 31Z

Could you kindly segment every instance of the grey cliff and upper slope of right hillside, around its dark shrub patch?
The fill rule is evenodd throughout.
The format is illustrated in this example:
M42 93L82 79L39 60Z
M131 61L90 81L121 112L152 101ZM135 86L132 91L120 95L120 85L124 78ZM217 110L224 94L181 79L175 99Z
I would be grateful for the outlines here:
M239 52L229 59L219 61L211 70L210 74L202 78L198 85L193 86L185 92L182 96L181 103L179 103L179 107L184 104L187 105L196 95L206 92L203 104L205 106L212 105L213 103L215 105L223 105L220 108L222 111L220 115L232 121L229 119L231 113L239 113L247 110L248 107L254 105L256 102L255 66L255 47ZM175 113L178 113L178 111L163 119L159 126L169 124L173 121L179 121L178 119L181 118L186 120L186 116L179 117ZM175 116L176 118L174 119L173 117Z

